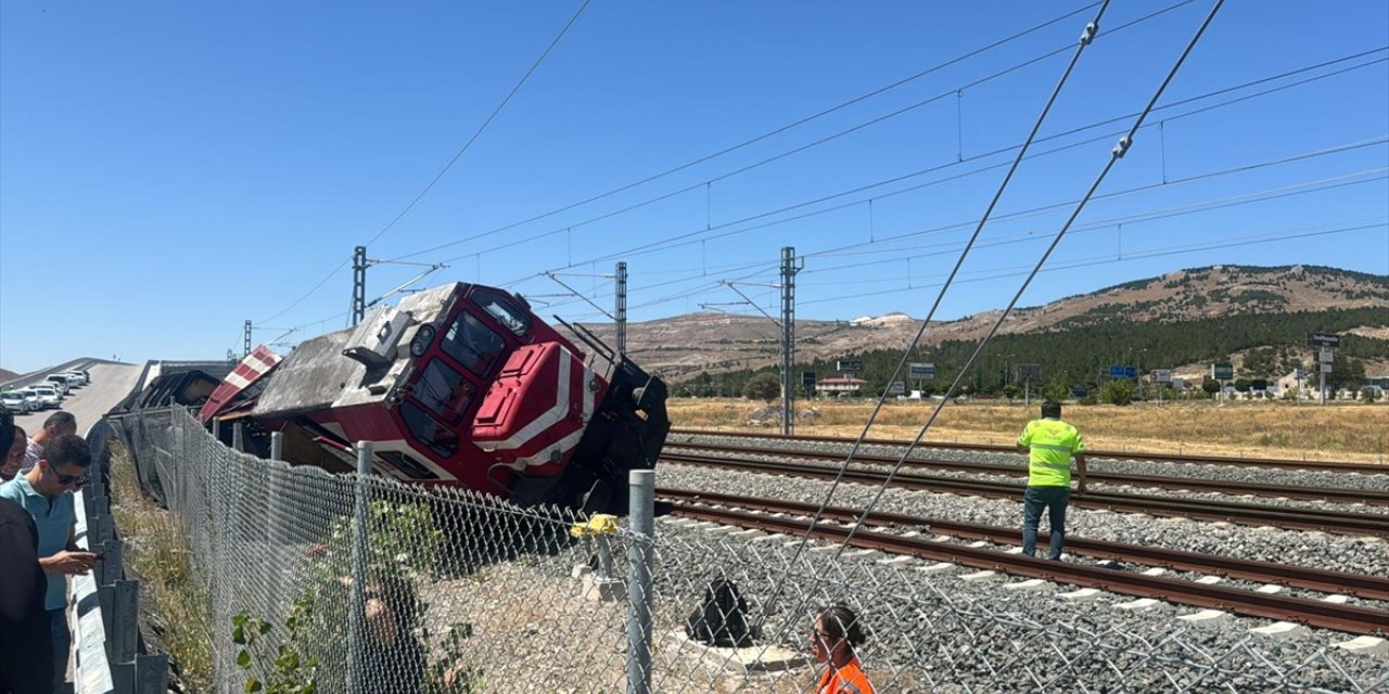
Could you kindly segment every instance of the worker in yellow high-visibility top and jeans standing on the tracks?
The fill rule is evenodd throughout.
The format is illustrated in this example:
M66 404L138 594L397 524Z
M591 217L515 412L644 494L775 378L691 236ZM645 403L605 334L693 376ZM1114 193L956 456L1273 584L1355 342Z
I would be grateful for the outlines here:
M1085 441L1081 432L1061 421L1061 403L1042 404L1042 419L1028 422L1018 437L1028 452L1028 489L1022 494L1022 554L1036 557L1042 509L1051 519L1050 559L1061 558L1065 541L1065 507L1071 502L1071 458L1081 473L1075 491L1085 494Z

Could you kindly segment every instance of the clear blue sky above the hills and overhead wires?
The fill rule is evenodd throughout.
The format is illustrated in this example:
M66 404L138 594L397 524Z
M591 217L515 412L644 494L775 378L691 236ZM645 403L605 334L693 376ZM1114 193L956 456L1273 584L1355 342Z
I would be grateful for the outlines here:
M543 273L610 305L618 260L633 321L739 301L720 280L775 311L782 246L799 316L921 316L1097 4L594 1L390 225L579 7L0 4L0 365L342 328L378 235L449 264L425 286L567 319L603 318ZM1110 4L940 318L1011 298L1208 8ZM1022 305L1210 264L1389 273L1386 47L1379 0L1228 1Z

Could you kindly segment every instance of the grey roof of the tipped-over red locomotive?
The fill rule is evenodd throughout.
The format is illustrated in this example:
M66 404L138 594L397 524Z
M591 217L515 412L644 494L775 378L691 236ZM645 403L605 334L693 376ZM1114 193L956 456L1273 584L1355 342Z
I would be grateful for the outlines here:
M463 289L463 285L453 283L418 291L401 298L396 308L408 311L417 323L432 323L453 305ZM399 346L393 362L368 375L367 366L343 355L353 330L338 330L294 347L275 368L254 415L283 418L385 400L410 365L408 348Z

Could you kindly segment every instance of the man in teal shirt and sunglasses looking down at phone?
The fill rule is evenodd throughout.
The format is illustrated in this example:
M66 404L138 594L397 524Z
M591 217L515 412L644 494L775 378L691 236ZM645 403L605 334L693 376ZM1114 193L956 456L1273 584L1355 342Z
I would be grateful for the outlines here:
M86 573L97 555L82 551L74 541L76 512L72 491L88 482L92 451L86 440L76 434L63 434L50 441L43 458L29 472L0 484L0 498L8 498L33 516L39 529L39 566L47 577L43 607L49 612L53 638L54 690L67 679L68 650L72 633L68 630L67 576Z

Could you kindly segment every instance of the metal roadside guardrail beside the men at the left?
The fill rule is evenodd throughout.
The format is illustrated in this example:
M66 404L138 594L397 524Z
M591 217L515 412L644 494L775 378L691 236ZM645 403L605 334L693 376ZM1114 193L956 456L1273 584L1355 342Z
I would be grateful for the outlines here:
M106 559L72 580L68 620L72 625L72 691L76 694L164 694L167 654L140 652L139 582L125 580L122 543L107 493L111 428L92 426L93 484L76 493L76 544Z

